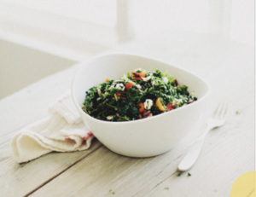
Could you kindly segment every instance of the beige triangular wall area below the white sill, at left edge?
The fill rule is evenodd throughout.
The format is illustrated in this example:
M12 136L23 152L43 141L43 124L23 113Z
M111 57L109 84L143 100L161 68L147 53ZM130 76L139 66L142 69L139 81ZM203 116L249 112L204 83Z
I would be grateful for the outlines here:
M0 99L76 63L2 39L0 46Z

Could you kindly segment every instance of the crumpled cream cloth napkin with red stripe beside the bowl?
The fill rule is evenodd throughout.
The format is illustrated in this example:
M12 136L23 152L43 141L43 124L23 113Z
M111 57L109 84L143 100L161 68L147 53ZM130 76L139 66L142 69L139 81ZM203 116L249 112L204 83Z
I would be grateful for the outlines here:
M52 151L71 152L90 148L94 136L80 119L69 91L49 107L49 116L27 125L11 140L18 163Z

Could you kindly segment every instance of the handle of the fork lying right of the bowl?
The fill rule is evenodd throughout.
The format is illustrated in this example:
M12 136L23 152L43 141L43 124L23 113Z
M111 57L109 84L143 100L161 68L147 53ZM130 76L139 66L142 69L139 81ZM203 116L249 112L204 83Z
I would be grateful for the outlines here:
M195 164L195 161L201 152L201 147L204 142L204 139L207 136L207 132L209 130L212 130L212 128L207 127L207 130L205 130L205 132L201 135L199 140L197 140L195 142L195 144L193 144L193 146L192 146L192 148L190 148L188 154L185 155L185 157L182 159L182 161L177 166L178 171L188 171L189 168L191 168L192 165Z

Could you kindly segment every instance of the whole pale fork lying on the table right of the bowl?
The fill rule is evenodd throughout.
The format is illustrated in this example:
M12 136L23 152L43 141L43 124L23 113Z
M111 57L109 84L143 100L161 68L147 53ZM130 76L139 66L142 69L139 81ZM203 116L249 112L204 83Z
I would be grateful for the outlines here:
M189 168L191 168L192 165L195 164L195 161L201 152L201 147L205 140L205 137L207 136L208 131L212 130L215 127L224 125L224 122L226 120L225 118L226 118L227 108L228 108L228 105L226 102L223 102L220 105L218 105L218 107L216 108L215 112L212 115L212 118L207 120L207 129L197 139L195 144L189 150L188 154L185 155L183 160L177 166L178 171L188 171Z

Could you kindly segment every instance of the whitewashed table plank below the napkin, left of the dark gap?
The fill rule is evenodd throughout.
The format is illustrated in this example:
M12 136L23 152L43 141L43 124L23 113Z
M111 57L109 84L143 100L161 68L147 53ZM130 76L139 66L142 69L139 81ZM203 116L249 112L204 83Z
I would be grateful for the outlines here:
M0 195L26 196L67 171L70 166L101 146L100 142L94 140L89 150L71 153L53 152L29 163L18 164L12 156L9 142L0 143Z

